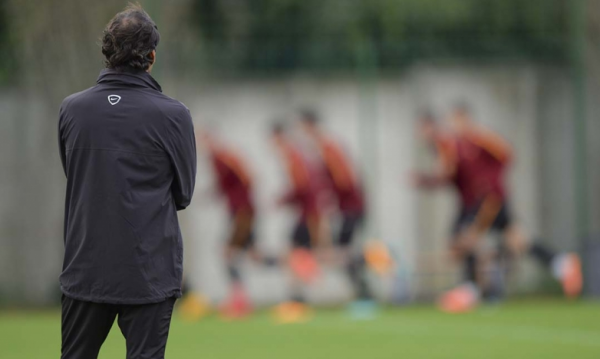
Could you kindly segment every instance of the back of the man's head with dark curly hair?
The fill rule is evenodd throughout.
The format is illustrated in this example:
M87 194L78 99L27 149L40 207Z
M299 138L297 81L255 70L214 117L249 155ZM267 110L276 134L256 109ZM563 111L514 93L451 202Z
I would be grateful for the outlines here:
M150 15L139 4L129 4L110 20L102 34L106 67L115 70L148 70L160 34Z

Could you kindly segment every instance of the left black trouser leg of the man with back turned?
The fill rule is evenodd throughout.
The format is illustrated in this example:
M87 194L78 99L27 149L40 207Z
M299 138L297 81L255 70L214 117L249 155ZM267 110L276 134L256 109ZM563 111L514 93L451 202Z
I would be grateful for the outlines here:
M62 298L61 359L95 359L106 340L117 309L110 304Z

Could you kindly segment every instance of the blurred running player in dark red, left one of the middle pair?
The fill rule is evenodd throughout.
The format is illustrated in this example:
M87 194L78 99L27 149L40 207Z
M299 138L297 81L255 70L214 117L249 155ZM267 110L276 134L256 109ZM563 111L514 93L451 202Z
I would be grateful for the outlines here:
M284 163L289 190L278 200L279 205L296 209L297 220L291 234L290 266L294 273L291 301L276 308L281 322L306 320L309 308L302 293L303 283L314 279L318 268L312 250L318 245L320 212L317 204L315 176L304 155L292 144L281 124L275 124L271 136Z

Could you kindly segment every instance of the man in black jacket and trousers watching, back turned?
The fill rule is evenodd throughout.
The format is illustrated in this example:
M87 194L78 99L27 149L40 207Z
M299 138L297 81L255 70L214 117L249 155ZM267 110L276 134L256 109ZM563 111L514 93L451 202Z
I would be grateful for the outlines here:
M118 318L127 358L163 358L183 248L178 210L192 199L189 110L150 76L159 33L129 6L102 38L97 85L60 109L67 176L60 285L62 358L93 359Z

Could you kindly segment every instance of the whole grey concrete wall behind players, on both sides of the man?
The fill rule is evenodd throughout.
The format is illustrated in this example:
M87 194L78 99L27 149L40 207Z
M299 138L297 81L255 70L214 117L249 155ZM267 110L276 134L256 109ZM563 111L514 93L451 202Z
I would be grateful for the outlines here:
M557 248L577 247L571 89L561 70L422 65L371 83L297 76L199 83L169 79L163 85L167 94L188 105L198 125L211 124L246 156L257 183L259 246L266 252L285 253L293 220L287 210L273 208L286 179L268 141L268 127L274 118L289 117L296 108L309 105L360 163L371 204L371 225L364 237L390 243L416 296L429 297L455 283L456 268L444 256L454 195L451 190L416 193L408 174L431 165L428 151L414 136L417 109L429 106L443 116L457 100L471 103L476 119L515 146L510 183L518 220L532 236ZM55 130L40 131L39 124L54 129L56 106L21 94L0 95L0 106L0 159L12 171L0 177L0 295L44 303L56 298L65 181L56 147L48 145L55 141ZM181 214L186 275L192 287L218 300L226 292L221 251L227 216L224 203L210 194L212 174L202 153L198 171L195 201ZM245 267L257 301L286 297L286 273L252 263ZM517 290L538 282L539 273L529 262L518 271L521 275L513 283ZM381 296L390 295L392 282L375 281ZM350 288L340 271L331 268L309 295L322 303L336 302L348 297Z

